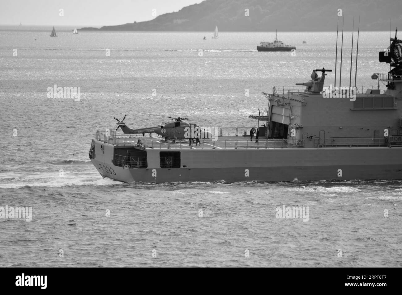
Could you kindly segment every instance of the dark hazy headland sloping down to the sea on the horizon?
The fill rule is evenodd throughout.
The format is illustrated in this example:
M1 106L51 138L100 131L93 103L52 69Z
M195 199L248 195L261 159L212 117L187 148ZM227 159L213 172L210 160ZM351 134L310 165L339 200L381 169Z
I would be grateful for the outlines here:
M205 0L178 12L162 14L153 20L81 31L336 31L341 9L345 31L352 30L352 18L361 17L361 31L388 31L402 26L400 0ZM151 13L151 12L150 12ZM355 19L355 22L357 19ZM357 23L355 23L357 26Z

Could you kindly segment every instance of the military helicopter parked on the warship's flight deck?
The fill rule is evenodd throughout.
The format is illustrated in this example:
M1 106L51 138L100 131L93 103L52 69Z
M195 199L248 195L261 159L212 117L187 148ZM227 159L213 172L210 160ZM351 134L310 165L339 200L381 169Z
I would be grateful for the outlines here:
M131 129L127 127L125 122L123 122L126 118L127 114L124 116L123 120L117 120L117 129L119 127L123 131L124 134L145 134L145 133L156 133L165 140L183 140L183 139L190 139L190 138L212 138L212 131L211 128L203 128L201 129L200 126L197 124L189 124L183 120L188 120L188 118L173 118L173 117L166 117L169 119L174 120L173 122L162 123L160 126L155 127L147 127L147 128L140 128L140 129ZM159 116L159 115L154 115ZM163 116L162 116L163 117ZM117 130L116 129L116 130Z

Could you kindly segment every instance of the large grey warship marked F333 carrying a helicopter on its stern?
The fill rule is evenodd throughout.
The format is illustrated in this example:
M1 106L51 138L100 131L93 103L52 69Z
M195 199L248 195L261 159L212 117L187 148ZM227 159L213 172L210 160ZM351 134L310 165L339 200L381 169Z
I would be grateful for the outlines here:
M314 69L308 82L264 93L258 140L240 128L185 136L180 118L144 129L116 119L120 133L96 132L89 158L102 177L124 182L402 179L402 41L391 41L379 53L392 67L378 77L384 93L324 87L330 70Z

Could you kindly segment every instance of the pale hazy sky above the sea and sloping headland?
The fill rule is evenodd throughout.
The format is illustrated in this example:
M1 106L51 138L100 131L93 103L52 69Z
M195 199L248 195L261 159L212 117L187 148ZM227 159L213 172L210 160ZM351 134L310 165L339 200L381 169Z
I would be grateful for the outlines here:
M104 26L154 19L203 0L0 0L0 25ZM59 16L59 10L64 16ZM156 16L152 10L156 9Z

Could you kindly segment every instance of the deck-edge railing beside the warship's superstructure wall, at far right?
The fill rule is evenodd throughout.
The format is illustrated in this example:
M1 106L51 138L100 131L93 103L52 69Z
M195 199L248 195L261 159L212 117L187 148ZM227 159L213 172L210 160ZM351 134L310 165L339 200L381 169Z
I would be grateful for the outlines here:
M379 138L316 138L314 140L315 147L363 147L363 146L387 146L402 145L402 136L388 136Z

